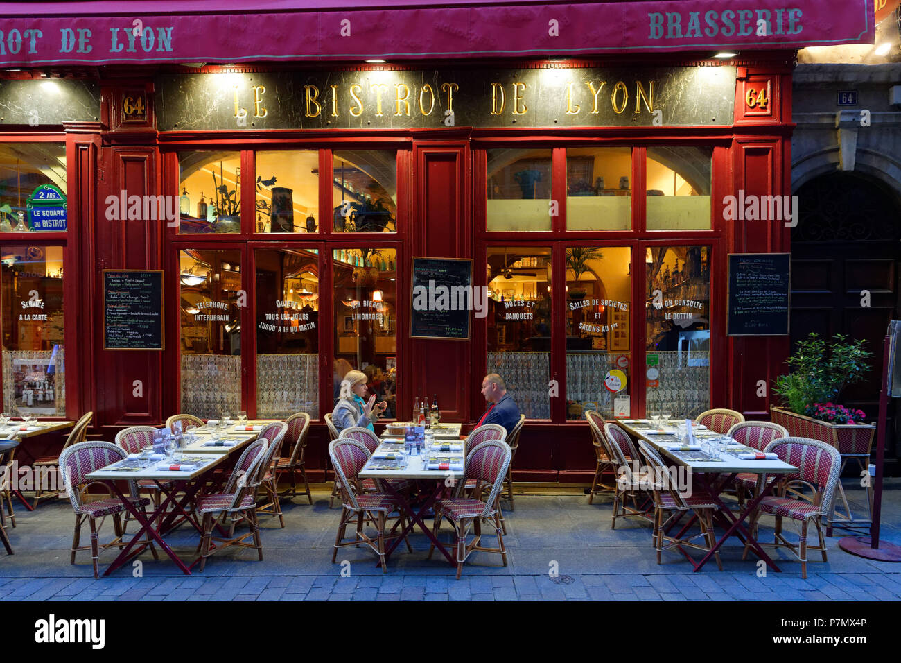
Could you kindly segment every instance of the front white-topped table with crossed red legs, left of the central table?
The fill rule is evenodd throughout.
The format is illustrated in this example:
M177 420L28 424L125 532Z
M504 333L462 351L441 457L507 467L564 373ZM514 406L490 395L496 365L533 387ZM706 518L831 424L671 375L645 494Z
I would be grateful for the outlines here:
M162 534L168 531L168 529L171 529L170 523L179 513L184 516L184 520L191 523L191 526L194 527L194 529L201 534L204 533L200 523L185 510L185 506L194 499L197 491L204 485L204 475L211 472L216 465L223 463L228 456L229 454L227 453L206 454L199 458L197 456L194 458L186 456L193 461L190 465L198 465L197 469L193 472L169 470L168 467L172 465L171 460L153 461L148 467L138 470L117 470L117 467L127 463L128 459L125 459L87 474L87 479L105 483L109 486L110 491L122 500L125 508L132 516L134 516L134 519L141 524L141 529L138 529L128 545L120 551L119 556L116 557L109 568L105 570L104 576L109 576L115 569L128 563L132 557L139 555L141 551L149 545L145 541L144 543L141 543L140 548L132 552L134 544L138 542L138 539L141 539L144 532L148 532L150 534L150 539L159 543L159 547L162 548L168 557L176 563L178 568L180 568L187 576L190 576L190 567L175 554L172 548L168 547L168 544L162 538ZM185 458L183 458L181 462L186 465L188 464ZM160 501L159 507L155 511L152 511L149 517L145 516L143 511L135 507L131 500L126 499L122 491L120 491L119 487L116 485L117 482L130 479L135 481L153 481L159 486L159 490L166 495L166 499ZM182 498L178 501L176 500L177 493L184 493ZM167 513L166 510L170 503L173 505L173 508L172 511ZM154 525L154 523L158 522L159 524ZM194 565L192 564L191 566Z

